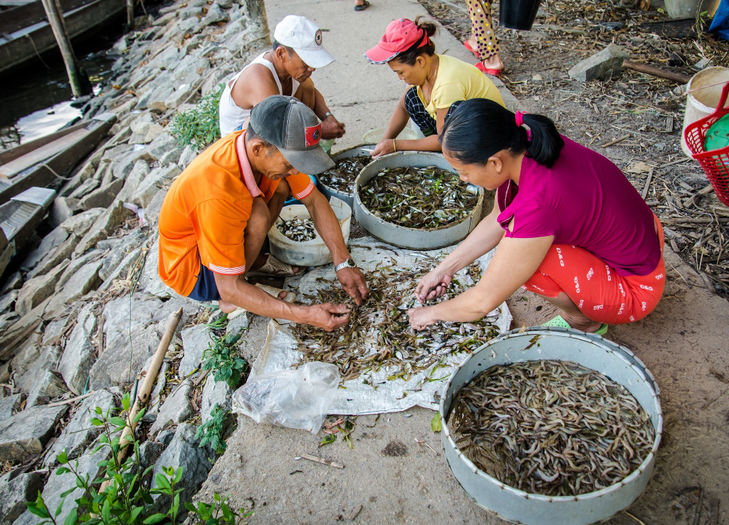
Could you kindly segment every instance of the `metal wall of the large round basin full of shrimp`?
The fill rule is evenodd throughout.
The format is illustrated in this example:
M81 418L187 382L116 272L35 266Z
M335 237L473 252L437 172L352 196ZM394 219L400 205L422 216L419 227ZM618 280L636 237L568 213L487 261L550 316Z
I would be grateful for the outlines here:
M479 470L456 446L445 421L459 390L494 365L540 359L572 361L604 373L625 386L650 416L655 428L651 451L640 466L619 483L574 497L529 494ZM663 432L659 393L650 371L633 352L599 335L555 327L532 327L521 333L512 330L473 352L448 381L448 389L440 400L445 459L456 480L477 505L508 521L526 525L587 525L606 520L629 507L650 480Z

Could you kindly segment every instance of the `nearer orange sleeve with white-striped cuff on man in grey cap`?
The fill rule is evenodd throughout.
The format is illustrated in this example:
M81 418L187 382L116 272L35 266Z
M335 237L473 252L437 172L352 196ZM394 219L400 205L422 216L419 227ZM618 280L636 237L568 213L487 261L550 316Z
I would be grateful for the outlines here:
M245 273L243 234L250 217L250 209L221 199L209 199L195 207L190 220L203 265L216 273Z

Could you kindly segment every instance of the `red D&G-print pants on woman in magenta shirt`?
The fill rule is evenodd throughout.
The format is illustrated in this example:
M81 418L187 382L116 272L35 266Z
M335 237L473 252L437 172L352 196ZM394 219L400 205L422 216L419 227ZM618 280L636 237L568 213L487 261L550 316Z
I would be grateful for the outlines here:
M623 324L644 318L658 305L666 285L663 228L658 226L660 261L646 276L620 276L585 249L553 244L524 288L555 298L565 292L589 319Z

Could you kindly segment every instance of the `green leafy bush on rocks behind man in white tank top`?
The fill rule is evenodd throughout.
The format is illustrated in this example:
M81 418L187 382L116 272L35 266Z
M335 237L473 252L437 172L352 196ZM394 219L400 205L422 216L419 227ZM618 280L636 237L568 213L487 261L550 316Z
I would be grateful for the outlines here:
M174 114L169 131L177 144L203 149L220 138L218 103L224 89L225 82L222 82L212 93L200 98L194 108Z

